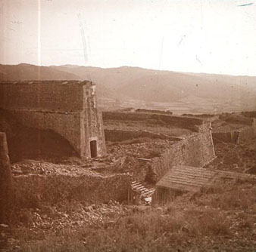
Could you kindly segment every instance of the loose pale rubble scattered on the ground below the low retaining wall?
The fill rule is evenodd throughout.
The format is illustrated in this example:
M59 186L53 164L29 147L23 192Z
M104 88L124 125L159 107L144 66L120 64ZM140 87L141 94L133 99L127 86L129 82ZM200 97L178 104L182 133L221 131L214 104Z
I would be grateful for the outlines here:
M68 209L70 208L70 209ZM97 226L98 223L112 222L115 216L127 214L129 208L117 201L109 201L108 204L83 205L73 202L70 207L48 206L44 209L36 208L31 211L32 229L42 229L59 232L65 227L77 229L86 224ZM20 223L20 228L26 223Z

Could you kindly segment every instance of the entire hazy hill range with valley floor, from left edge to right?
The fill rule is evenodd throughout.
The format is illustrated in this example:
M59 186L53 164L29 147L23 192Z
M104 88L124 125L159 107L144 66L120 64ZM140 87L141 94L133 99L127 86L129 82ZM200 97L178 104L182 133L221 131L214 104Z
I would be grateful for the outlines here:
M122 66L102 69L91 66L0 65L1 80L84 80L94 81L98 97L140 100L145 103L189 103L191 98L215 99L238 106L256 103L256 77L186 73ZM242 105L241 105L242 104ZM255 104L256 105L256 104Z

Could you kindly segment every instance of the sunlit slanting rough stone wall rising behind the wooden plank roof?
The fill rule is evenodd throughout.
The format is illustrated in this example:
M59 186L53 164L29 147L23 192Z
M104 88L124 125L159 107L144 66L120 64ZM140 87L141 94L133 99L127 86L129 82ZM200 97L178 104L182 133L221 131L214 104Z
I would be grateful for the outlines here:
M158 178L177 165L202 167L215 158L214 144L211 137L211 124L204 123L198 130L180 142L173 143L160 158L153 158L151 166Z

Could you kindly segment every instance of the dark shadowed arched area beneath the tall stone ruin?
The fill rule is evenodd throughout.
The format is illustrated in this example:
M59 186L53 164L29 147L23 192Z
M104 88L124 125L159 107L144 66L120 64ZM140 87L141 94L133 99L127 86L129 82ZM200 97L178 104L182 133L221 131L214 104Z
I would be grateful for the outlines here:
M73 146L60 134L23 126L1 110L0 131L6 133L12 162L26 159L61 161L63 158L79 157Z

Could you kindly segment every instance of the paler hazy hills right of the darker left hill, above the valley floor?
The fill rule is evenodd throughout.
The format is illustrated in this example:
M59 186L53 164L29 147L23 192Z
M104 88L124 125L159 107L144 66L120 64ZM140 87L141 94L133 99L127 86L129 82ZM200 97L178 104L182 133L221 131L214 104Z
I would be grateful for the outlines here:
M194 95L223 101L248 102L256 99L256 77L204 73L186 73L123 66L97 67L53 66L80 78L91 79L111 91L112 97L130 97L155 102L172 102Z

